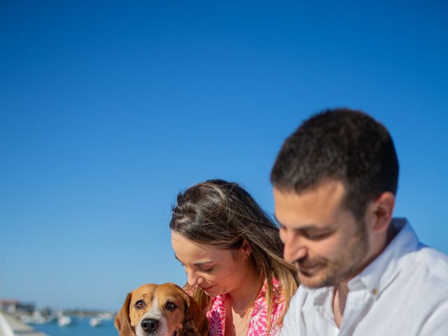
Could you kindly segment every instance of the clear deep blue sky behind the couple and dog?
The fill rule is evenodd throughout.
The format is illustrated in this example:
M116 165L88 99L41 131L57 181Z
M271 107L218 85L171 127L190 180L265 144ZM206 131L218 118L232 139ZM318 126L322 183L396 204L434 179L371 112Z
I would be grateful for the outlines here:
M400 160L395 208L448 253L444 1L1 1L0 297L118 309L186 275L176 194L242 183L272 214L283 140L362 109Z

